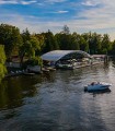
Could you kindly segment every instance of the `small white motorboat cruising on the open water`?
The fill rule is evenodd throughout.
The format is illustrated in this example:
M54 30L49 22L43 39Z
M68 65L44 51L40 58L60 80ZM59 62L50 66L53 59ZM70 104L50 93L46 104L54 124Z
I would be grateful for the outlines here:
M112 84L104 82L92 82L90 85L84 86L84 91L93 92L93 91L104 91L108 90Z

